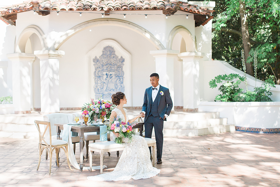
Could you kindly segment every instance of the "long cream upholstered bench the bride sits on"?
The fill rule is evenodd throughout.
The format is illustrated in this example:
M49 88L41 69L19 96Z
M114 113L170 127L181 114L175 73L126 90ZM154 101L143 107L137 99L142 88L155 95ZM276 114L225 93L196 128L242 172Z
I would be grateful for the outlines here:
M153 166L155 165L155 146L156 141L151 138L145 138L148 147L153 148ZM121 151L124 150L126 143L118 144L114 141L103 141L90 143L88 145L88 154L90 155L90 172L92 171L92 151L100 154L100 173L103 173L103 155L106 152Z

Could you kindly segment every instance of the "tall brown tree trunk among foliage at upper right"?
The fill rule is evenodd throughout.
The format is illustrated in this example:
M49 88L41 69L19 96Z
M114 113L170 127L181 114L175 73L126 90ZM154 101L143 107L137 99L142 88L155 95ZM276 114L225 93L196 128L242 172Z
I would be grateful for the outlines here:
M249 38L248 22L246 21L247 17L244 14L245 13L245 2L243 0L239 0L239 11L240 11L240 18L241 18L241 32L242 32L242 40L243 40L243 46L244 46L246 73L254 76L252 63L247 63L249 51L251 50L251 44L250 44L250 38Z

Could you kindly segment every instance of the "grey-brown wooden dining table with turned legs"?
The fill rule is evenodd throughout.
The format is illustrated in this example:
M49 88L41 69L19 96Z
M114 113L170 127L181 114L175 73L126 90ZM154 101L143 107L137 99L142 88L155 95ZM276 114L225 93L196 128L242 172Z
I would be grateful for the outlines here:
M56 131L57 131L57 139L60 139L60 132L63 130L63 125L62 123L55 123L56 126ZM140 136L143 136L143 129L144 129L144 123L139 122L138 124L134 125L132 127L133 129L139 129ZM85 132L100 132L99 126L93 126L93 125L72 125L71 128L72 132L78 132L78 136L80 137L80 169L81 172L83 171L83 137ZM108 139L110 141L110 139Z

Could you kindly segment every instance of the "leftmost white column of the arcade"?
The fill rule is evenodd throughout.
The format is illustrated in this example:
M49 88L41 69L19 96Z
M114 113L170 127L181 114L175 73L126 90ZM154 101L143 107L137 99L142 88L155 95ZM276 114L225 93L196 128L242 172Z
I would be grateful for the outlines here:
M12 61L13 105L15 114L31 112L31 65L36 59L30 53L11 53L7 58Z

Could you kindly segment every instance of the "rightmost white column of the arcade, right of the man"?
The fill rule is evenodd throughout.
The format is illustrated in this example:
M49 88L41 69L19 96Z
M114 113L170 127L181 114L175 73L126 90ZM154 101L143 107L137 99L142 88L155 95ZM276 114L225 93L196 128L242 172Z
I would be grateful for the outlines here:
M183 60L183 111L198 111L199 105L199 60L204 53L184 52L178 57Z

